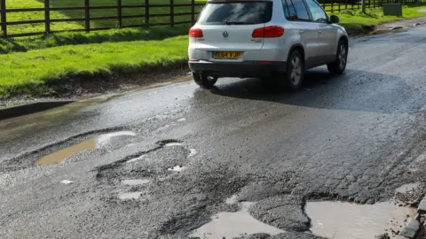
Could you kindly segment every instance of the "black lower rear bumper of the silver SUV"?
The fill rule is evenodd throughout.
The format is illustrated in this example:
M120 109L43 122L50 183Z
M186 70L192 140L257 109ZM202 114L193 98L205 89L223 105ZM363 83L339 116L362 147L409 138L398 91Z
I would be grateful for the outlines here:
M273 73L284 73L286 62L211 62L189 61L193 73L211 73L219 77L268 77Z

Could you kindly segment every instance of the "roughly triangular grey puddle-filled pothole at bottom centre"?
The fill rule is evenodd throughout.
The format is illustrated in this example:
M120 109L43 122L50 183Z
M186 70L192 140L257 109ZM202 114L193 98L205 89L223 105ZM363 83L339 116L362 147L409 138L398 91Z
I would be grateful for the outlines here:
M241 203L241 210L238 212L219 212L212 217L212 220L193 230L190 236L206 239L213 238L234 238L241 235L251 235L266 233L278 235L283 233L279 228L269 226L256 220L248 213L248 208L254 203Z

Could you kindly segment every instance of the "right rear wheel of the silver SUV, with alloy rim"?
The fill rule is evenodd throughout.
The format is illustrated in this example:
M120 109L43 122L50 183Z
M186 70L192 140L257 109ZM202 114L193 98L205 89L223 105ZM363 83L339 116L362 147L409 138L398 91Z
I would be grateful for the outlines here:
M294 91L300 89L304 81L304 58L299 50L292 50L287 62L284 87Z

